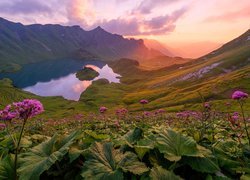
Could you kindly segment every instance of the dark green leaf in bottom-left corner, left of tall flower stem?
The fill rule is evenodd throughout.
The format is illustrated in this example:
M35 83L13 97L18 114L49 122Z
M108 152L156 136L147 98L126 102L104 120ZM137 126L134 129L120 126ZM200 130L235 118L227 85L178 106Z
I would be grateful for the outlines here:
M0 161L0 179L15 180L14 160L10 155Z

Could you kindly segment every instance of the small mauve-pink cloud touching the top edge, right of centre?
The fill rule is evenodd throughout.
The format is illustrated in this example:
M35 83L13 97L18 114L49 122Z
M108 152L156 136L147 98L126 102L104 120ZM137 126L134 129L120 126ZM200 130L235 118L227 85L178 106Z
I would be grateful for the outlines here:
M136 7L132 13L139 14L150 14L151 11L159 6L163 6L166 4L175 3L178 0L144 0L142 1L138 7Z

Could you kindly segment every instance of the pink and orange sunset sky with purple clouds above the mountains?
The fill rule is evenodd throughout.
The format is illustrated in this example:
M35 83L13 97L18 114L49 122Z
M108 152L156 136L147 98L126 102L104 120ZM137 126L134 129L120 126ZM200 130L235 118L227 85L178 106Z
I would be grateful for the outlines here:
M249 0L1 0L0 17L23 24L97 26L155 39L198 57L250 28Z

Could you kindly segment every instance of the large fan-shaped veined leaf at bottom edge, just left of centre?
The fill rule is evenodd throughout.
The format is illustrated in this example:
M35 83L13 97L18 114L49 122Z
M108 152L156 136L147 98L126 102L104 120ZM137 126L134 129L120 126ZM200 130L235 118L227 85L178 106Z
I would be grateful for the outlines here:
M86 179L123 179L124 172L142 174L148 171L144 163L132 152L122 153L112 143L98 143L89 149L82 177Z

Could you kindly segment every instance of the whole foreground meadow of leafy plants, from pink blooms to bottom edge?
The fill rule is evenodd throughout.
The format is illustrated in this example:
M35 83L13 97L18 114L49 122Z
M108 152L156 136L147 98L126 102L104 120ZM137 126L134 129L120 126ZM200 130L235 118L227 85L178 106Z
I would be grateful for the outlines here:
M104 112L57 122L28 119L17 175L20 180L247 179L250 147L243 116L233 120L234 114L208 106L176 116ZM12 119L0 133L1 179L15 179L9 132L15 137L21 124Z

